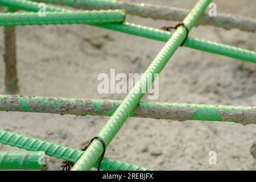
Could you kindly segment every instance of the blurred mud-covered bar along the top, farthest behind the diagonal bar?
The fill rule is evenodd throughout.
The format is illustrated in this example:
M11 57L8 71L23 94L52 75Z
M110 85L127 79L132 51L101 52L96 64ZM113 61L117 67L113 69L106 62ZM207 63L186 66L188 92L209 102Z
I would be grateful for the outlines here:
M181 21L189 13L187 9L179 7L170 7L163 5L152 5L150 3L135 3L128 1L112 0L32 0L37 2L54 3L67 5L87 10L108 10L124 9L132 15L142 16L144 18L166 19ZM205 13L197 22L197 25L212 25L222 27L226 30L238 28L243 31L256 31L256 19L245 16L234 16L230 14L218 13L217 16L209 16Z

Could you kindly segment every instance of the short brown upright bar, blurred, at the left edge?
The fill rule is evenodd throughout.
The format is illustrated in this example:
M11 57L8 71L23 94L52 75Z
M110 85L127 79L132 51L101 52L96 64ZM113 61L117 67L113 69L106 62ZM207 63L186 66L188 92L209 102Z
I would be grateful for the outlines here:
M5 13L14 13L15 10L7 7ZM5 54L3 60L5 62L5 90L10 94L19 91L18 73L16 69L16 30L13 26L3 27L3 35L5 39Z

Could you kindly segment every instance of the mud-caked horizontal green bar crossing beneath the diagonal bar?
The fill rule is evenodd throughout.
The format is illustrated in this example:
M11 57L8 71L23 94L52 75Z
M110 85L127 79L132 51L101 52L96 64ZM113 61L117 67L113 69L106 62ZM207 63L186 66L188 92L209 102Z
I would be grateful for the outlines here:
M122 101L0 95L0 111L112 116ZM129 117L256 124L255 106L139 102Z

